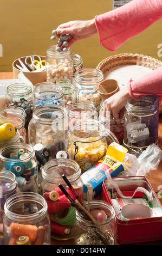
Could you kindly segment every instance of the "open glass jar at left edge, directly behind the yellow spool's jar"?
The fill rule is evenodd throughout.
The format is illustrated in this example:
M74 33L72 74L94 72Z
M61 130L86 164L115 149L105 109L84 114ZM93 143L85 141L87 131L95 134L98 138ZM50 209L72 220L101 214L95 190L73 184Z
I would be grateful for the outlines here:
M0 116L1 117L17 117L23 121L23 126L25 126L25 117L26 113L23 108L21 107L5 107L0 109Z

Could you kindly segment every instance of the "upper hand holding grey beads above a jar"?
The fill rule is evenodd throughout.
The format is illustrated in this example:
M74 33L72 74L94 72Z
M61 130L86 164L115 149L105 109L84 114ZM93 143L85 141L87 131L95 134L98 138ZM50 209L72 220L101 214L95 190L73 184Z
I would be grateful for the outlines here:
M95 20L88 21L69 21L67 23L61 24L57 28L57 37L63 34L70 34L70 38L68 39L68 47L70 47L74 42L89 38L97 34L98 31L95 26Z

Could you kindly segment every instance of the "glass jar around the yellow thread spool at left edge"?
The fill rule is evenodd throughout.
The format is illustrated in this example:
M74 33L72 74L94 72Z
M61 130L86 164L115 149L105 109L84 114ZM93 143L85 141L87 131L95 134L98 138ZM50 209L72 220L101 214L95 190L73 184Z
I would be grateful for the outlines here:
M14 127L18 130L19 135L20 135L20 142L24 142L26 143L26 129L23 125L23 120L20 118L16 118L16 117L3 117L2 118L4 121L6 121L7 123L10 123L12 125L14 125Z

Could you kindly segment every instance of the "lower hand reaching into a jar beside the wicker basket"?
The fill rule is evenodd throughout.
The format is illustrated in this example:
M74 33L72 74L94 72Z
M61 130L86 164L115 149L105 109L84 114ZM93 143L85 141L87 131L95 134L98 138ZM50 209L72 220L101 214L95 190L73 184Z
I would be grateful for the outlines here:
M125 105L130 97L127 87L121 89L118 93L109 97L104 101L103 116L112 115L114 119L119 119L124 116Z

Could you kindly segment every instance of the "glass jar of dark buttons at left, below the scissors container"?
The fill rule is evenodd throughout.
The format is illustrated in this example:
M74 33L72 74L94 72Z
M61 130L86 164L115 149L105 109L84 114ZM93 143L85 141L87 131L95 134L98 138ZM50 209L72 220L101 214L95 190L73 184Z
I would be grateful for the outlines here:
M26 131L28 131L28 124L33 114L32 89L29 84L10 84L5 95L7 106L21 107L27 114L24 125Z

